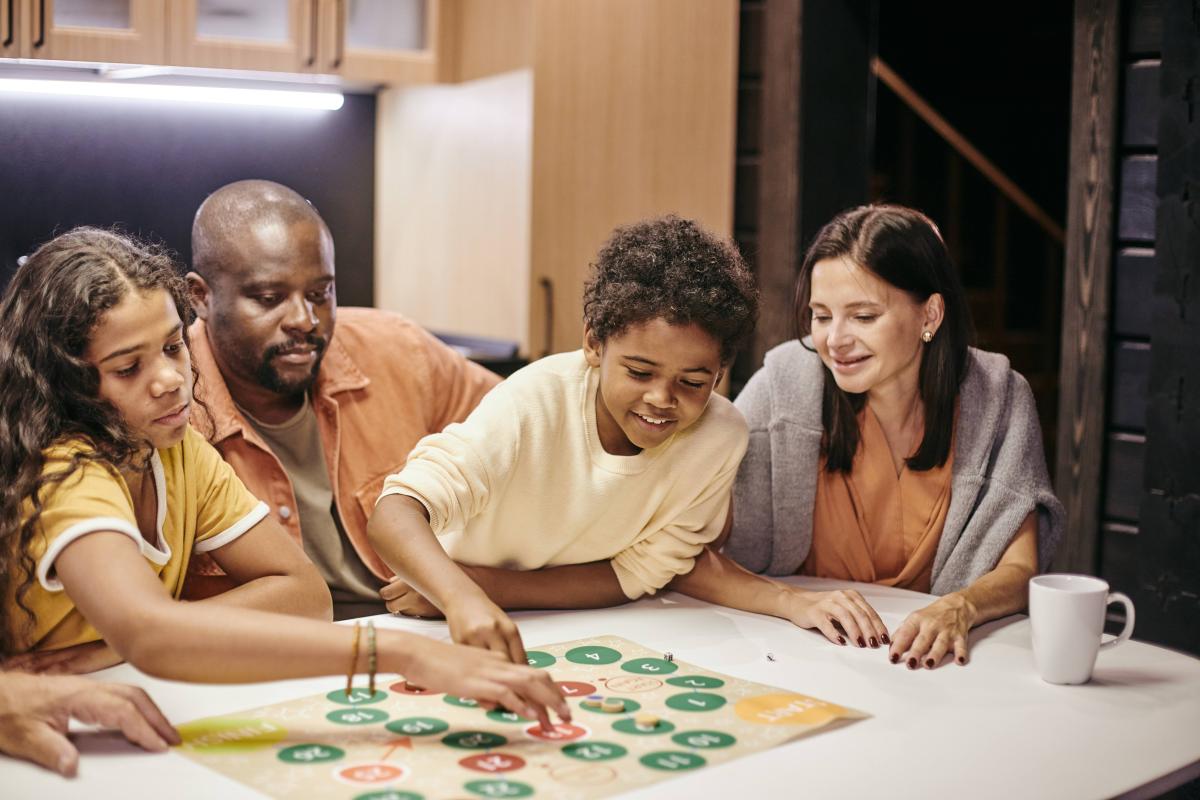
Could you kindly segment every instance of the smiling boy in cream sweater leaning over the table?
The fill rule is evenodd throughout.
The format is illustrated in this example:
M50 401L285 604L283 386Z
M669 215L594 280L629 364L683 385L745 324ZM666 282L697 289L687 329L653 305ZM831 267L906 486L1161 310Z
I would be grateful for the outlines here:
M611 606L689 572L746 447L713 392L756 308L737 251L696 223L618 229L583 348L514 374L385 481L368 535L402 578L389 608L436 609L456 642L523 661L500 607Z

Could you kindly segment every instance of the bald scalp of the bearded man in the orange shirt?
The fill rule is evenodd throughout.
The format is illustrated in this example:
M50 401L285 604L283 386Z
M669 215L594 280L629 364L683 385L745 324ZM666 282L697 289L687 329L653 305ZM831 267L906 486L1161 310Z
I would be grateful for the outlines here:
M192 269L208 281L220 279L244 266L248 255L276 249L300 225L316 227L332 249L325 221L296 192L264 180L227 184L196 211Z

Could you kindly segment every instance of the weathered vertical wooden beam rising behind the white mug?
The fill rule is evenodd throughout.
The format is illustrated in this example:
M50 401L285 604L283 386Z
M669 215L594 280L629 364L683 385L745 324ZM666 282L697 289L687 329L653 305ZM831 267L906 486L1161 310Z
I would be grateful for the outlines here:
M1118 0L1076 0L1055 488L1067 533L1055 569L1094 572L1100 527Z

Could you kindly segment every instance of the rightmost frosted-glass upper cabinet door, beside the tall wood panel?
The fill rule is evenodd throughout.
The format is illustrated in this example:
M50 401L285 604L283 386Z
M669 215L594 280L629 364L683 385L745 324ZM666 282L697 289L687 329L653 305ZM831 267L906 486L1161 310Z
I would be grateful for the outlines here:
M439 0L322 0L317 72L368 83L434 80Z

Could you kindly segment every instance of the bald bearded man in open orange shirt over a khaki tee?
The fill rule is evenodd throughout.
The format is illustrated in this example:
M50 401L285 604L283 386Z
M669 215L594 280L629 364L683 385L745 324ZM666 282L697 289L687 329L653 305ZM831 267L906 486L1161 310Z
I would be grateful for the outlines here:
M346 619L385 610L392 573L366 536L384 479L499 378L398 314L338 312L334 264L329 228L286 186L229 184L196 212L198 428L304 547ZM186 597L226 588L211 559L193 560Z

